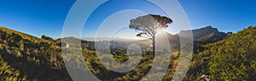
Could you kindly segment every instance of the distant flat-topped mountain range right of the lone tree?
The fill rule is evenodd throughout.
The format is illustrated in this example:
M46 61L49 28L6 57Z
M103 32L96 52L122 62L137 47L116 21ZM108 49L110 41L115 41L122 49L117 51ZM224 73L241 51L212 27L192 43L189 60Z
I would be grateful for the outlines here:
M195 45L196 44L208 44L216 41L223 40L227 34L224 32L218 31L217 28L213 28L212 26L207 26L201 29L196 30L181 30L179 34L177 35L171 35L169 33L166 33L168 36L168 40L170 41L170 45L173 47L179 47L179 39L180 38L186 38L186 34L193 34L193 40ZM180 37L179 35L183 34L183 37Z

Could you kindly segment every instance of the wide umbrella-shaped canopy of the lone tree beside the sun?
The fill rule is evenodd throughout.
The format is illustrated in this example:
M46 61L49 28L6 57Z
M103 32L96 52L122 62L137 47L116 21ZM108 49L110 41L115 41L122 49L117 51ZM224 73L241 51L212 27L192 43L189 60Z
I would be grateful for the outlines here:
M137 30L139 37L145 37L154 40L157 30L167 28L167 24L172 24L172 19L165 16L148 14L130 20L130 29Z

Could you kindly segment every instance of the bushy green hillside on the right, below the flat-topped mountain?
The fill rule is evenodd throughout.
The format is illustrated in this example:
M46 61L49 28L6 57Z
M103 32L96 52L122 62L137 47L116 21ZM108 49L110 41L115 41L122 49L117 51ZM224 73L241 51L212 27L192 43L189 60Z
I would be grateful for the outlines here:
M210 75L213 81L256 79L256 27L248 27L194 54L187 80Z

